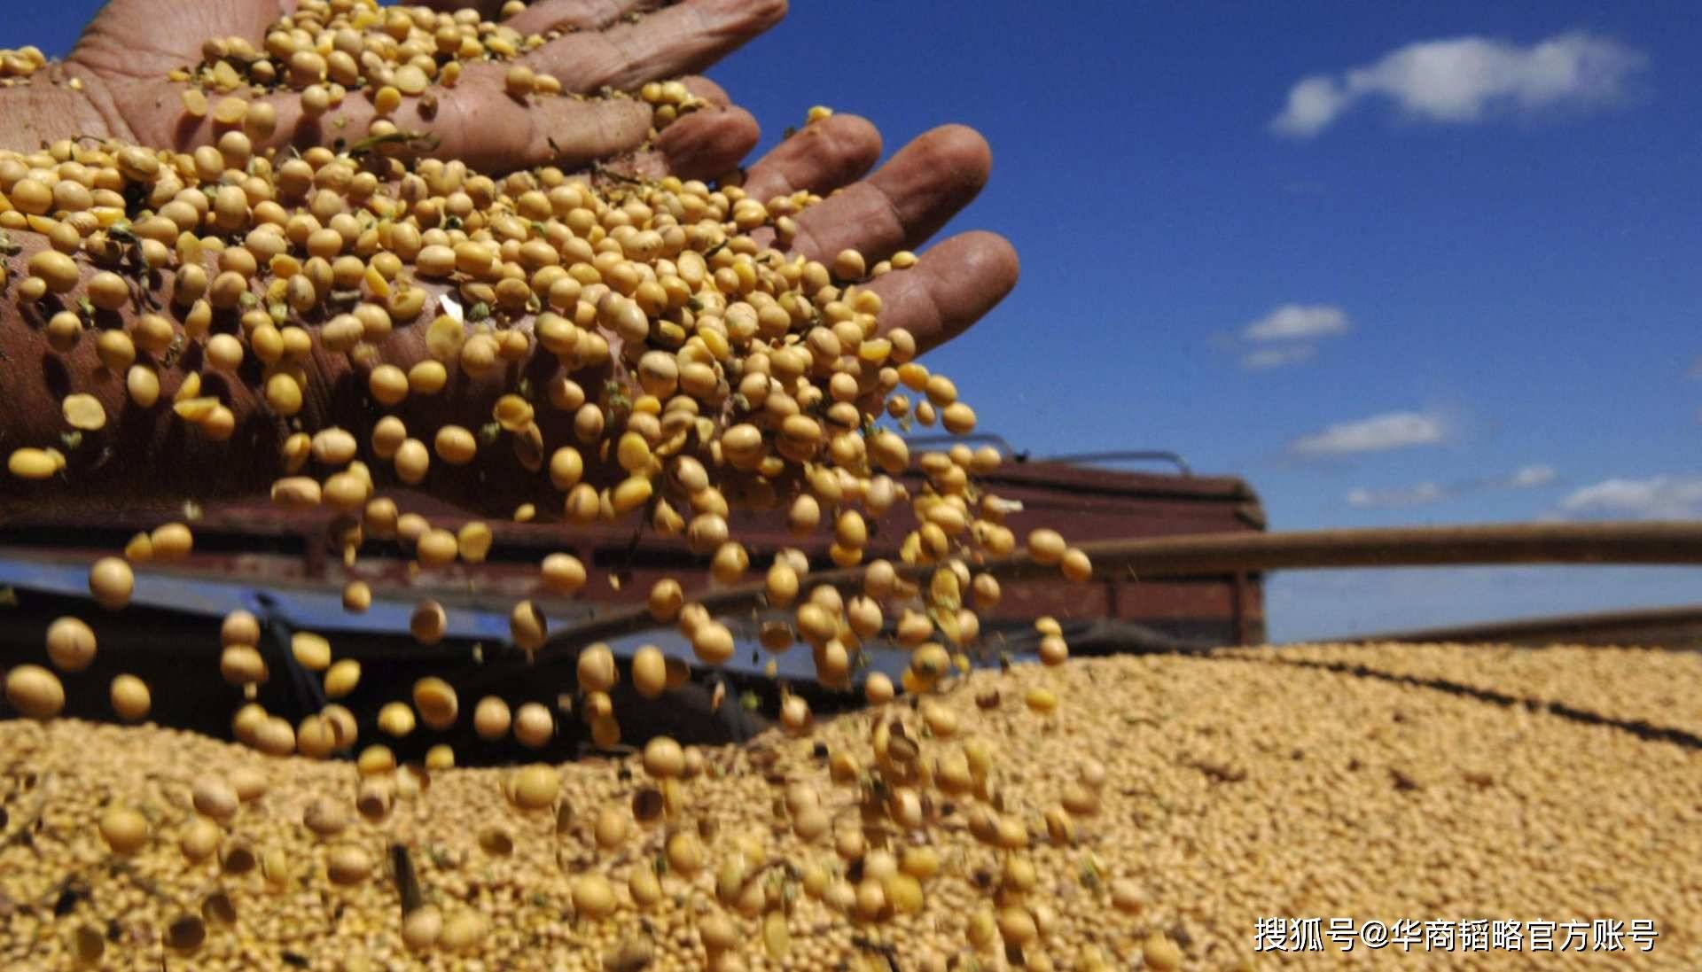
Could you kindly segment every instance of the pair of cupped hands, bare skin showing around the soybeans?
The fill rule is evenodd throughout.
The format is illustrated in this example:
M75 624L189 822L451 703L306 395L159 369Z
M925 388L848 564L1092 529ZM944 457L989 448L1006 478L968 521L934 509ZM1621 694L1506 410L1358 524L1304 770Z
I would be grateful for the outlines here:
M134 19L150 9L174 17L174 26L168 31L155 29L151 34L138 34L153 37L155 43L141 43L136 49L128 51L128 56L121 56L126 51L119 49L119 41L126 32L134 32L134 27L126 27L123 17ZM567 56L560 63L551 61L541 68L551 70L551 73L557 73L567 83L582 87L608 83L611 78L621 85L633 85L652 73L662 77L674 70L698 68L739 46L749 36L749 31L756 29L751 27L752 20L742 20L735 15L740 10L749 15L754 9L756 3L751 0L686 0L676 7L667 7L631 20L625 17L630 10L623 3L604 2L597 5L592 0L550 0L528 10L526 15L553 17L562 15L563 10L585 15L596 14L596 19L589 20L585 29L562 34L558 41L531 54L533 58L563 56L555 46L575 39L580 44L591 44L591 48L585 48L587 51L599 49L599 44L604 48L613 46L611 49L620 58L604 58L601 61L603 66L597 66L599 61L591 56ZM247 12L247 20L238 17L243 10ZM694 26L691 29L684 27L688 20L664 19L671 12L683 10L693 12L694 20L689 22ZM172 43L175 41L167 41L167 37L254 36L277 12L277 0L231 0L230 3L196 7L150 0L114 0L73 54L68 70L73 77L89 78L85 85L90 104L100 106L102 116L112 119L112 133L119 138L187 148L199 138L209 138L211 133L197 126L186 126L180 109L180 85L165 80L165 73L186 63L197 61L199 41L194 43L194 49L191 51L174 51ZM616 15L613 26L608 24L611 14ZM717 15L723 15L725 19L713 20ZM517 20L519 17L512 22ZM723 27L730 24L730 27L715 29L715 22L723 24ZM664 31L667 24L674 24L674 29ZM557 27L560 24L548 26L548 29ZM495 70L494 65L470 66ZM575 70L580 73L574 73ZM536 99L538 104L523 107L499 89L483 89L473 83L478 77L477 71L470 70L460 87L439 92L443 97L439 99L436 119L417 119L420 123L434 123L432 131L441 140L439 155L465 152L475 162L490 169L524 169L541 162L572 163L575 160L589 162L620 155L621 152L630 152L635 145L631 140L638 138L631 133L623 134L625 129L620 129L623 123L613 112L626 111L626 107L642 102L631 99L577 100L560 97ZM492 80L492 83L497 83L497 80ZM725 94L711 82L696 78L689 83L700 97L711 104L727 104ZM48 90L68 95L65 89ZM283 141L279 145L315 134L296 126L300 112L291 116L286 111L284 102L300 102L300 95L289 92L274 97L281 106L279 140ZM483 104L482 99L488 99L492 106L483 114L480 114L483 111L480 107ZM351 95L347 102L351 106L349 111L357 111L361 106L366 106L368 111L371 107L364 94ZM12 104L17 106L17 102ZM448 104L461 107L444 111ZM511 111L519 114L504 114ZM648 124L648 107L643 111L643 124ZM548 112L567 112L562 116L565 128L555 126L550 121L553 116ZM514 121L514 124L505 124L504 119ZM521 119L526 121L521 123ZM477 128L475 121L478 123ZM361 128L352 131L364 131L364 123L359 124ZM398 124L407 128L410 123L398 119ZM582 128L574 128L575 124ZM620 131L611 129L611 124ZM483 134L485 138L480 140L477 134ZM540 136L545 141L543 148L536 145ZM749 146L756 140L756 124L749 121L747 114L737 109L706 111L684 116L669 126L664 136L659 145L660 152L642 160L640 170L654 169L683 177L710 177L732 169L749 152ZM570 146L577 155L567 153ZM962 334L999 303L1016 283L1018 260L1013 247L1002 237L982 232L962 233L922 249L987 182L991 152L977 133L962 126L945 126L929 131L895 153L885 165L875 169L880 155L882 140L870 123L854 116L831 116L807 124L766 157L749 165L744 174L744 191L747 196L761 201L800 189L824 197L817 206L797 216L798 232L788 243L788 249L795 254L827 262L842 249L856 249L865 255L868 266L875 266L897 250L922 250L919 262L912 269L873 277L865 286L878 293L885 301L882 313L883 325L887 329L909 329L916 335L917 346L928 349ZM759 243L768 243L773 238L768 230L759 230L756 235L759 237ZM24 240L26 249L39 243L41 240L34 238ZM9 330L14 339L0 340L0 349L9 349L10 357L22 361L41 356L41 349L36 347L39 337L29 329ZM422 335L415 334L415 330L419 329L398 329L393 340L419 344L422 342ZM390 351L412 351L415 357L424 352L422 347L395 347ZM92 351L85 349L83 356L87 357L89 354ZM335 385L351 392L363 386L346 381L349 376L347 361L339 359L332 363L328 361L330 356L320 354L317 357L325 357L325 361L318 363L315 369L315 386ZM405 357L407 354L398 354L398 359ZM184 363L180 361L179 369L182 366ZM162 380L168 385L167 392L170 392L170 386L175 386L177 378L179 375L162 373ZM36 407L19 407L17 414L22 424L17 432L24 441L51 441L53 431L58 427L58 400L63 397L60 393L63 390L56 392L46 385L36 390L31 383L26 383L26 390L39 392L39 395L34 395L39 402L36 402ZM102 390L102 393L106 392L112 390ZM121 398L123 392L119 390L114 395ZM123 402L117 398L109 407L123 407ZM250 417L259 415L262 410L247 388L233 388L228 405L245 426ZM363 429L368 420L366 409L361 405L357 393L330 395L313 412L318 426L346 424L347 427ZM488 407L485 414L488 414ZM31 432L32 420L37 417L39 429ZM162 436L168 432L167 426L168 422L160 426ZM259 426L266 426L266 422L259 422ZM211 480L220 480L206 483L211 492L240 492L247 478L238 475L237 470L271 475L271 456L276 455L276 444L262 448L264 443L250 443L257 449L254 455L255 461L231 463L228 453L218 453L211 446L206 449L191 448L180 434L175 437L167 436L168 441L157 439L158 436L136 436L134 444L138 453L136 456L126 456L126 460L133 461L114 460L107 466L107 472L155 466L180 470L184 466L163 461L177 455L179 458L191 460L187 465L194 468L204 465L208 468L230 470L226 477L230 482L223 482L221 477L211 477ZM172 453L172 449L177 449L177 453ZM206 461L194 461L201 453L206 453L203 456ZM92 475L89 482L90 485L99 485ZM134 485L141 489L148 483L138 482ZM162 480L158 485L172 489L170 482Z

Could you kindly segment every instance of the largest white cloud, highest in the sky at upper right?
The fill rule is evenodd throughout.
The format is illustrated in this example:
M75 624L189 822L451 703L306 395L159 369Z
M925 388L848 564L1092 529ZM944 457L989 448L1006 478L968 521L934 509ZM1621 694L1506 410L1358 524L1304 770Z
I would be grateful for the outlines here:
M1641 51L1586 32L1556 34L1528 48L1488 37L1421 41L1343 75L1297 82L1282 114L1271 119L1271 131L1311 138L1374 95L1438 124L1561 106L1600 107L1622 100L1627 80L1646 63Z

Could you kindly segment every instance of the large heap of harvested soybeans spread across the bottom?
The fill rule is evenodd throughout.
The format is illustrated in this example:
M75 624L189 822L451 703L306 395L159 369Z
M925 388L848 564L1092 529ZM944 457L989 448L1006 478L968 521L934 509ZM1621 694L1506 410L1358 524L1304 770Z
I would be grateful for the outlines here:
M929 969L948 957L1002 969L1002 931L1028 967L1127 969L1145 948L1164 969L1179 943L1183 967L1237 969L1254 919L1287 914L1637 916L1659 938L1622 962L1702 960L1695 749L1305 664L1425 666L1518 695L1525 660L1571 654L1368 650L984 671L921 712L887 703L810 739L659 746L558 776L534 769L536 783L494 769L398 775L383 822L349 807L349 764L267 761L151 729L10 722L0 957L56 969L63 950L99 941L112 969L162 957L174 969L385 969L412 943L431 969L475 967L451 948L485 969L638 969L621 957L643 953L650 969L696 969L706 955L720 969ZM1653 718L1666 679L1702 676L1697 655L1666 655L1661 669L1639 664L1646 652L1590 657L1617 678L1569 688L1586 712L1629 705ZM1037 691L1057 708L1025 705ZM868 773L900 764L931 778L914 829L858 810ZM558 812L519 809L526 786L557 780ZM114 807L146 824L129 855L95 826ZM228 836L192 846L209 827L197 807L230 812ZM407 921L383 865L390 841L410 848L424 899ZM189 851L206 856L186 866ZM242 866L252 873L231 873ZM191 960L158 943L179 924L204 935ZM1280 958L1261 963L1287 967ZM1339 952L1290 960L1348 963ZM1586 967L1511 952L1380 960Z

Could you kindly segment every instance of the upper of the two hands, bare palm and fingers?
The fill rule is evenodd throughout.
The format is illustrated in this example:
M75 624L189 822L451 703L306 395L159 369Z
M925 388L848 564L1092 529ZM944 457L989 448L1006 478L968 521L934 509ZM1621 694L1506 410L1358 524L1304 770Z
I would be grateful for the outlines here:
M466 2L436 0L429 5L454 10ZM553 75L567 95L591 95L603 89L630 92L652 80L700 71L774 26L786 10L785 0L684 0L645 12L647 7L650 3L625 0L545 0L505 20L504 27L521 36L562 32L514 63ZM89 131L83 124L73 133L48 133L39 128L51 119L37 119L31 134L43 141L112 134L177 150L211 145L218 136L211 117L186 116L180 102L186 85L167 75L201 63L206 37L243 37L264 51L267 27L296 9L296 0L112 0L89 24L65 65L54 68L82 80L83 95L99 111L107 131ZM454 87L434 85L426 92L429 97L403 99L391 121L402 131L429 133L436 140L429 155L460 158L485 172L546 163L582 167L631 153L650 133L652 109L638 99L511 97L504 90L511 66L500 61L468 63ZM749 112L730 106L713 82L686 77L684 83L708 107L683 114L664 128L654 150L669 172L708 179L737 165L756 145L757 128ZM351 92L337 109L318 119L305 116L300 92L288 87L260 100L276 109L277 123L276 131L255 148L306 148L332 145L339 138L354 143L366 136L368 124L376 117L371 99L363 92ZM61 106L51 111L65 114ZM14 121L7 128L17 124Z

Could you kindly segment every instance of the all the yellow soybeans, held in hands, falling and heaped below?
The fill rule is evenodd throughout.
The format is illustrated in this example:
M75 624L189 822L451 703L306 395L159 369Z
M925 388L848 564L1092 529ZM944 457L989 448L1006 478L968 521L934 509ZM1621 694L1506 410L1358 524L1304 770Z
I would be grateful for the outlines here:
M875 281L917 257L795 254L820 197L756 199L737 177L415 158L390 121L403 99L538 43L477 15L303 0L264 51L211 39L177 77L214 145L0 150L0 284L63 388L9 390L7 495L123 500L143 473L126 463L179 449L266 473L347 567L402 541L419 572L483 562L492 529L403 509L398 485L504 502L485 514L563 538L625 523L701 557L701 577L635 592L700 666L735 643L694 592L756 567L762 649L807 645L820 683L870 708L817 725L783 693L783 729L744 749L659 737L625 761L482 771L437 746L398 766L383 739L463 718L538 747L570 713L614 747L616 683L665 706L686 669L655 647L618 666L567 645L577 695L558 710L463 708L422 672L408 698L351 712L337 700L359 660L298 632L291 664L332 701L291 722L254 701L272 672L238 611L220 632L233 747L58 720L61 679L100 650L65 616L5 674L26 717L0 723L9 969L1237 969L1256 916L1462 912L1653 918L1656 958L1695 962L1699 776L1670 739L1351 666L1071 664L1052 623L1043 666L968 674L1001 596L992 562L1023 548L1077 582L1093 565L1052 529L1006 526L1019 507L977 483L997 453L909 455L914 424L975 427L882 320ZM0 65L20 80L41 58ZM560 97L524 68L505 82ZM368 138L267 148L283 90L310 117L369 99ZM657 128L693 107L679 82L638 95ZM868 560L871 524L905 507L897 563ZM138 569L192 557L196 509L90 565L97 609L123 611ZM860 584L812 584L797 550L752 565L732 509L831 531ZM541 592L585 582L567 550L538 565ZM342 601L361 613L373 591L351 580ZM434 643L446 625L420 601L410 632ZM511 642L546 650L531 601ZM899 684L860 676L877 642L911 652ZM1636 691L1615 689L1619 713ZM155 696L170 705L170 686L111 683L121 720Z

